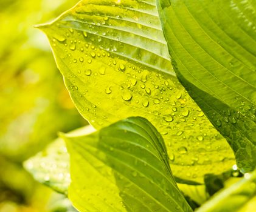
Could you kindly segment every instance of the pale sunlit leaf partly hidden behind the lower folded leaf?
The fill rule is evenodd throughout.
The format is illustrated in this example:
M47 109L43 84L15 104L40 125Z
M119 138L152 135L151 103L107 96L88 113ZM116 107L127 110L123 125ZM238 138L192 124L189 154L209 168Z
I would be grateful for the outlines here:
M78 136L92 133L91 126L79 128L68 134ZM69 154L63 139L58 138L49 144L44 151L30 157L24 162L24 167L36 181L41 182L63 194L67 194L67 188L71 182L69 174Z

